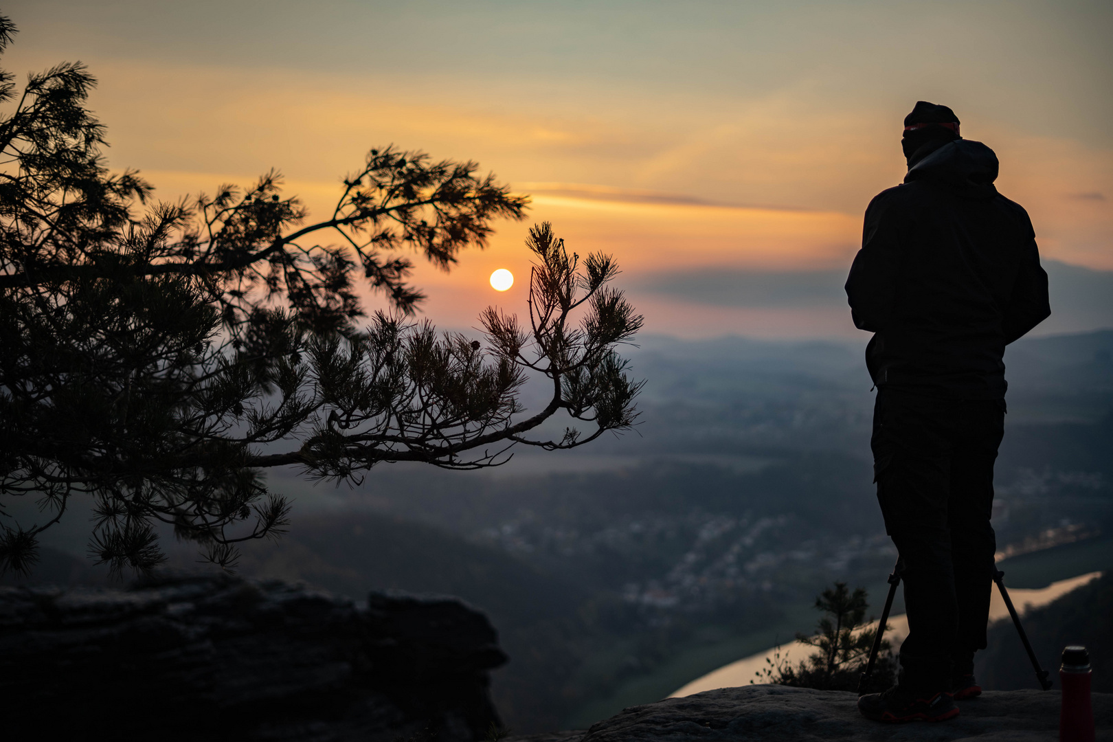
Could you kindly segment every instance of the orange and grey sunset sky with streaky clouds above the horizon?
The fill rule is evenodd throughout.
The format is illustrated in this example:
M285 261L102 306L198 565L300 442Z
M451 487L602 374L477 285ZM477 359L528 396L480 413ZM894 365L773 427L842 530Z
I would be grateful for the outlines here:
M919 99L996 150L998 188L1027 208L1048 265L1113 271L1107 1L16 0L3 12L20 28L4 67L86 62L110 165L140 169L161 198L274 167L324 214L342 177L391 142L476 160L531 194L528 219L499 224L486 250L450 274L418 268L424 310L445 327L474 326L487 304L524 310L522 240L550 220L581 255L614 255L648 332L853 337L838 277L869 199L904 175L902 120ZM486 280L496 268L518 277L503 294ZM1056 295L1070 308L1077 291L1056 280L1053 309ZM1113 325L1106 309L1061 316L1047 327Z

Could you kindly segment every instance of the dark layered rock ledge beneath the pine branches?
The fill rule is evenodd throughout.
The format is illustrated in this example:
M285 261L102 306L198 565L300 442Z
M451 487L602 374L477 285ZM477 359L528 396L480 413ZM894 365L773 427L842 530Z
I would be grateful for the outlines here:
M482 739L505 662L454 598L280 582L0 587L8 739ZM32 736L33 735L33 736Z

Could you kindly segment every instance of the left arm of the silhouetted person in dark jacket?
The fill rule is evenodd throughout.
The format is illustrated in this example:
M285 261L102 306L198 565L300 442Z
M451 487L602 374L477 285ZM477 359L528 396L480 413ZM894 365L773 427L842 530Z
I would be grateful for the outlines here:
M858 329L877 333L889 324L896 301L896 278L900 265L899 238L886 194L866 209L861 249L846 279L850 317Z

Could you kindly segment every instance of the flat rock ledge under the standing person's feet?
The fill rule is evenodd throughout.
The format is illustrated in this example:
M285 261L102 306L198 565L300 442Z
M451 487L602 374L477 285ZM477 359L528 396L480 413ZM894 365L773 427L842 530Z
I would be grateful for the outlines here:
M1097 740L1113 740L1113 694L1095 693ZM959 702L952 721L881 724L863 719L857 696L784 685L707 691L626 709L601 721L582 742L750 742L764 740L1018 740L1058 739L1057 691L1001 691ZM554 741L555 742L555 741ZM564 741L571 742L571 740Z

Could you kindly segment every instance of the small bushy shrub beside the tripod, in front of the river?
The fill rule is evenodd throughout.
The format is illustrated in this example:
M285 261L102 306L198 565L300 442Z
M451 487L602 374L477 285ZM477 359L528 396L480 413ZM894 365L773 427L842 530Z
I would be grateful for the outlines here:
M869 660L869 649L877 636L877 630L868 627L874 617L866 617L869 607L866 598L865 588L858 587L851 593L845 582L836 582L834 587L825 590L816 597L816 609L823 611L824 616L815 633L796 635L798 642L818 651L794 667L777 647L774 657L766 660L768 666L756 673L759 682L824 691L857 690L858 679ZM896 670L893 646L885 640L865 691L874 693L887 689L893 684Z

